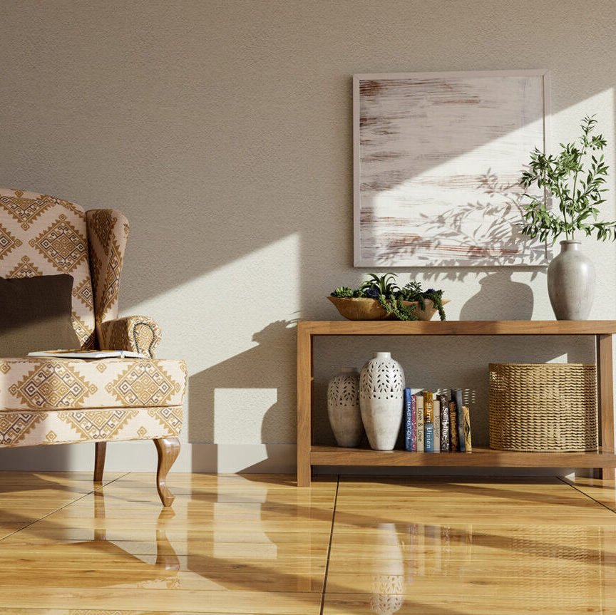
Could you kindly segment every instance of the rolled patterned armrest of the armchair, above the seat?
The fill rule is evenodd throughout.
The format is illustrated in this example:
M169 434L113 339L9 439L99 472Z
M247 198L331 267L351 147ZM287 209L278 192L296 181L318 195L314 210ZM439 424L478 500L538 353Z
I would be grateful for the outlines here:
M140 352L152 358L160 343L160 327L148 316L125 316L98 323L101 348Z

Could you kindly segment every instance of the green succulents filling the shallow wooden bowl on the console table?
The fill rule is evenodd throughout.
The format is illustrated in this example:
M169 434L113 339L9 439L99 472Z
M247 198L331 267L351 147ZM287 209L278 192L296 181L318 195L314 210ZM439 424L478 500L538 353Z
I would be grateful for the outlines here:
M438 310L438 316L445 320L445 309L443 308L443 291L421 289L421 283L410 281L402 288L396 284L396 274L386 273L382 276L369 274L369 278L364 281L357 289L349 286L339 286L332 292L332 296L341 299L376 299L379 301L387 314L394 314L398 320L418 320L416 308L426 309L426 299L432 301L433 306ZM414 305L405 304L414 302Z

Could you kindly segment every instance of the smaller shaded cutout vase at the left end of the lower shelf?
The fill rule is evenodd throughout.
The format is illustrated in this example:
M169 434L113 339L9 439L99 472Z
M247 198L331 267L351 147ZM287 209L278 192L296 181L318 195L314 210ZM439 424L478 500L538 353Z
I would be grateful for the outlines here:
M327 415L339 446L359 446L364 423L359 411L359 373L342 368L327 386Z

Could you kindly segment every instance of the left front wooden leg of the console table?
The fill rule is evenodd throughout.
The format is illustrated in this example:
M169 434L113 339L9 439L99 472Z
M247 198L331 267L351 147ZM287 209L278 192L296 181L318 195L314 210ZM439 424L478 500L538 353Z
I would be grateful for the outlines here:
M312 336L297 325L297 486L310 486L312 446Z

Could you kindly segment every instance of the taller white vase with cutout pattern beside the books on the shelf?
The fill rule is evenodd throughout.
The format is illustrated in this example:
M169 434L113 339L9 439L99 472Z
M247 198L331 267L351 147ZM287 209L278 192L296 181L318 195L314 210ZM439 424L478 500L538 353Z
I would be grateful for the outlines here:
M377 352L359 377L359 408L370 446L392 450L402 423L404 371L389 352Z

